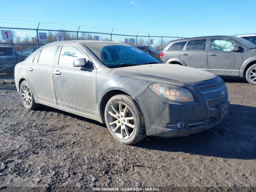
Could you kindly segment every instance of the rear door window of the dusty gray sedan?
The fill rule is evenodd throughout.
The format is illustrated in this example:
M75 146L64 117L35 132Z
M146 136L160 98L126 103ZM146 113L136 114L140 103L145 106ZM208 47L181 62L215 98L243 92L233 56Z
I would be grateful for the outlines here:
M53 65L54 58L59 46L51 46L41 50L38 63Z

